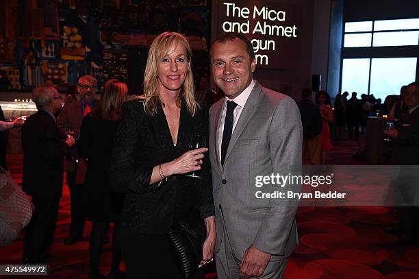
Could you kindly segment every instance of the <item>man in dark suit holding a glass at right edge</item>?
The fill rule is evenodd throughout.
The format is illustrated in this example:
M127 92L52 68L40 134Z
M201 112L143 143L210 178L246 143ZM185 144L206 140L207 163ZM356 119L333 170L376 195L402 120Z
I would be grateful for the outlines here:
M396 205L402 205L397 208L396 227L385 229L385 232L400 236L398 244L411 245L416 243L419 233L419 207L414 206L417 205L414 199L415 196L417 197L418 182L415 175L412 175L416 174L417 165L419 165L418 82L412 82L405 88L404 100L407 112L400 123L397 124L396 129L384 130L389 138L394 139L392 165L404 166L401 168L401 175L396 184ZM402 175L402 173L407 173L407 175Z

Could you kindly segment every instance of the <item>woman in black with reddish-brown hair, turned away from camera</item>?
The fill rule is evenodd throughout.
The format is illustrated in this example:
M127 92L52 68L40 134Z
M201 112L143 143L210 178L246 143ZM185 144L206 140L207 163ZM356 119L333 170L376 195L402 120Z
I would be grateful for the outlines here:
M121 259L119 218L123 195L112 193L108 170L114 137L120 123L120 108L127 97L128 88L119 80L108 80L97 108L81 124L79 154L86 158L88 167L85 180L87 217L92 221L90 232L90 276L105 278L99 272L99 258L109 223L114 223L112 237L112 266L110 278L123 274L119 270Z

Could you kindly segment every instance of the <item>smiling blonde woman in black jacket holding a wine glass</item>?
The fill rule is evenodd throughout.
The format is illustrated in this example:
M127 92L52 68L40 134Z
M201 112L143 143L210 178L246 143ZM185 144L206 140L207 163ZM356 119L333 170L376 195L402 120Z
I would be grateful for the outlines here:
M209 133L207 109L194 100L190 60L181 34L157 36L147 58L144 95L121 112L110 171L114 191L128 193L121 216L127 278L183 278L165 234L193 208L207 228L202 263L213 256L210 161L206 148L188 151L192 136ZM185 175L191 171L202 178ZM195 277L204 278L203 271Z

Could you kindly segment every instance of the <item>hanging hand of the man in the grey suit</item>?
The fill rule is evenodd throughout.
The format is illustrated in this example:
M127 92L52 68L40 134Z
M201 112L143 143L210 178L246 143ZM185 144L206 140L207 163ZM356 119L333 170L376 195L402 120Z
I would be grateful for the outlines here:
M270 254L257 249L253 244L246 249L240 265L240 278L259 277L264 274L270 260Z

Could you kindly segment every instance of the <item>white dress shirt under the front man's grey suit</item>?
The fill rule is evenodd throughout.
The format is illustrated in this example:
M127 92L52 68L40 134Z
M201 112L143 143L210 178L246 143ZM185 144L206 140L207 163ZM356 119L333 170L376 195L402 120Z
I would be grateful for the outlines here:
M247 86L246 89L243 90L243 92L238 95L234 99L229 99L227 96L225 97L225 101L223 104L223 109L221 110L221 119L220 119L220 126L218 127L218 156L220 156L221 160L221 143L223 143L223 132L224 132L224 122L225 122L225 114L227 114L227 101L234 101L238 106L234 108L233 112L233 131L231 131L231 134L233 134L234 129L236 128L236 124L238 122L238 119L240 118L240 114L242 114L242 110L244 108L244 105L246 104L247 99L249 99L250 93L253 90L253 87L255 87L255 81L252 80L251 84Z

